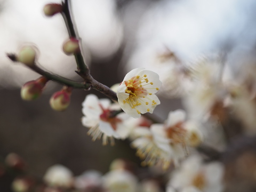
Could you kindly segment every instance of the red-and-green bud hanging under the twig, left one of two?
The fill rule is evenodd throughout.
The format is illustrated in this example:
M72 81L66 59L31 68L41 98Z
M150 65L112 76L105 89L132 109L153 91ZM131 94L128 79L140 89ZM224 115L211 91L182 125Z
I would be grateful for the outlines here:
M43 92L44 86L48 80L45 77L40 77L36 81L25 83L21 87L21 98L31 101L37 99Z

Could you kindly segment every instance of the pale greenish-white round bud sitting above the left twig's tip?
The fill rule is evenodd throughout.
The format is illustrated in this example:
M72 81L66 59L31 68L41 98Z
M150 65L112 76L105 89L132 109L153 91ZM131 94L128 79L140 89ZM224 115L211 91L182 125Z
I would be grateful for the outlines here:
M33 46L24 46L21 48L17 61L24 63L27 66L34 66L36 59L36 50Z

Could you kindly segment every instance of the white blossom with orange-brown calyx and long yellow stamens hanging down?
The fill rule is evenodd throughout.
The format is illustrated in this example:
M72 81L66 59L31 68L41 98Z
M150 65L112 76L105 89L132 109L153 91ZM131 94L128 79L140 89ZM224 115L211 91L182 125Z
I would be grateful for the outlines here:
M196 147L202 141L199 124L185 119L185 111L170 111L164 124L152 124L149 129L139 127L132 146L137 155L144 159L142 165L162 165L167 169L173 162L177 165L188 153L188 147Z

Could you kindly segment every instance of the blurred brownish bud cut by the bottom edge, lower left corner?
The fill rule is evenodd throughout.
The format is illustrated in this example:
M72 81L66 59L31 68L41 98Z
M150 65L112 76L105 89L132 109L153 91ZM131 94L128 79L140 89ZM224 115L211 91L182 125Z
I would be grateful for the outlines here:
M33 186L33 181L29 178L16 178L12 182L14 192L28 192Z

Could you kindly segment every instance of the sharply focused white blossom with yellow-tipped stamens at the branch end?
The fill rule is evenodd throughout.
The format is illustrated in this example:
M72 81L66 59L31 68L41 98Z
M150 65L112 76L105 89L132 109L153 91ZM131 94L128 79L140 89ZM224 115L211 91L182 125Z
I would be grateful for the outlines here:
M141 114L153 113L160 104L155 93L162 85L159 75L145 68L131 70L117 89L118 103L125 113L139 118Z

